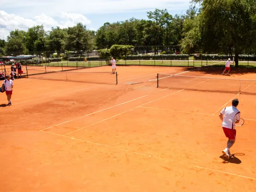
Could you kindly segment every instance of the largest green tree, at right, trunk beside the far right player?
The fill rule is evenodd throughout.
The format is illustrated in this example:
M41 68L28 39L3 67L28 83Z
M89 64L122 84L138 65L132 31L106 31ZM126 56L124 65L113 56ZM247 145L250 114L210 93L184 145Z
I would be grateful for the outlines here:
M255 33L255 0L193 0L200 3L202 48L235 55L252 44Z

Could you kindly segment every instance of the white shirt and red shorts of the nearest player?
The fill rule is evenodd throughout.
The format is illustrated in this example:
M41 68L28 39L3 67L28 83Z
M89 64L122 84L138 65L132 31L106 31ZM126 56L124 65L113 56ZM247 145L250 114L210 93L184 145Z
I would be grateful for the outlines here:
M236 120L240 120L240 111L234 107L226 107L221 111L221 114L224 115L222 128L226 137L230 140L236 139L236 129L235 122Z

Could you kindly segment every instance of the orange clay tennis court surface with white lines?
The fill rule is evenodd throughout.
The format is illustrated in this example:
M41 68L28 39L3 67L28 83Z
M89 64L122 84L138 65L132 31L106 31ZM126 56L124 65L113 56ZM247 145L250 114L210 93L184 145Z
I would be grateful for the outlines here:
M157 88L154 80L256 75L188 70L118 66L117 85L102 84L115 80L109 66L74 70L74 81L54 80L58 73L15 80L12 106L0 94L0 191L255 191L255 95ZM76 81L86 74L91 83ZM218 114L233 98L245 123L227 161Z

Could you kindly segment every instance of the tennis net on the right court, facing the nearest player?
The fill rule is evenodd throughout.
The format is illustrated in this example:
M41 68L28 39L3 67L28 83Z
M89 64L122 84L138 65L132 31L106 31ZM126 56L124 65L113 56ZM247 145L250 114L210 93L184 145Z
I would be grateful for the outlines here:
M159 73L157 74L157 87L221 93L256 94L256 80L179 76Z

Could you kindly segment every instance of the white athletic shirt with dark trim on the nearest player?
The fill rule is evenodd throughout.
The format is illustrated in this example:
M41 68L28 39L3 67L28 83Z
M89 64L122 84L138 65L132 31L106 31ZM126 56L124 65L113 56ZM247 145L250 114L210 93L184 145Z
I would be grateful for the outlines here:
M236 120L240 120L240 111L234 107L226 107L221 111L221 114L224 115L222 127L235 129Z

